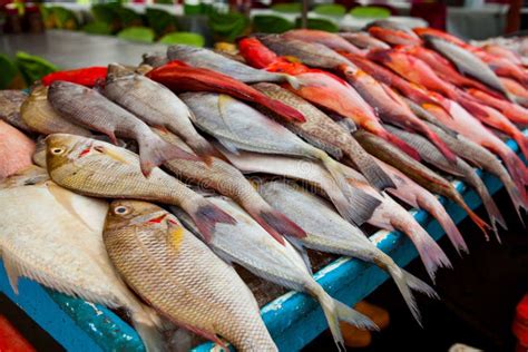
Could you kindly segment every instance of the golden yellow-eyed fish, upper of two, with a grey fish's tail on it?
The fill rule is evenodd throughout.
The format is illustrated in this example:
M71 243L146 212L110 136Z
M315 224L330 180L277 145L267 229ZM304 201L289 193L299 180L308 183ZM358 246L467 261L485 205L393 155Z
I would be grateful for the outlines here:
M218 223L234 219L187 188L183 183L154 168L147 179L139 157L127 149L91 138L55 134L46 138L46 164L51 179L80 194L104 198L133 198L182 206L205 238Z

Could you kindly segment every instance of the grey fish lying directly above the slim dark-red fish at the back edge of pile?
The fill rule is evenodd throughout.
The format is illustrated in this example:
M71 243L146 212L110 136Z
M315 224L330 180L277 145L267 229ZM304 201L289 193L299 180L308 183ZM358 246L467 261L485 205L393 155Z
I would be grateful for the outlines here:
M225 76L229 76L245 84L256 84L262 81L283 82L291 79L287 75L255 69L204 48L184 45L170 46L167 49L167 56L170 61L178 60L194 67L206 68L224 74Z

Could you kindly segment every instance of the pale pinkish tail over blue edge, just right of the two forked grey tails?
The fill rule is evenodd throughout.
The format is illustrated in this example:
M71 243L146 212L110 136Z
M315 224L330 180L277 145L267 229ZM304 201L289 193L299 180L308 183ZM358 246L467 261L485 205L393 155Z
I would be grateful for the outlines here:
M420 226L420 224L409 219L391 221L391 225L405 233L414 244L426 271L434 282L436 272L439 267L452 268L451 262L443 253L442 248L432 239L431 236Z

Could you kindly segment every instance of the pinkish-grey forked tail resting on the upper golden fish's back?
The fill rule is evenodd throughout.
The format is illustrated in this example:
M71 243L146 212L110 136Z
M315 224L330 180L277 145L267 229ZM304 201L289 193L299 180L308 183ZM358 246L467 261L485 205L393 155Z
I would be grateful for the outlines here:
M153 168L159 166L168 160L185 159L185 160L201 160L199 157L192 153L187 153L179 147L163 140L156 136L156 143L145 143L144 138L139 141L139 163L141 172L145 176L150 175Z

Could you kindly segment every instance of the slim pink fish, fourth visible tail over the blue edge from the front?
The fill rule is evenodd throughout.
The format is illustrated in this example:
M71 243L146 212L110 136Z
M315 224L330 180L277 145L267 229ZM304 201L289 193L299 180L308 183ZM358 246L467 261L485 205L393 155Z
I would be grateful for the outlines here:
M394 184L394 188L388 189L387 192L398 197L399 199L405 202L410 206L415 208L421 208L431 214L437 222L442 226L443 231L451 241L452 245L460 254L460 252L469 253L468 245L463 241L462 234L457 227L457 224L451 219L448 212L443 205L438 201L437 196L432 193L410 179L402 172L392 167L389 164L385 164L381 160L378 160L380 166L391 175Z

